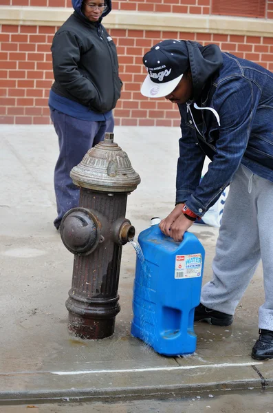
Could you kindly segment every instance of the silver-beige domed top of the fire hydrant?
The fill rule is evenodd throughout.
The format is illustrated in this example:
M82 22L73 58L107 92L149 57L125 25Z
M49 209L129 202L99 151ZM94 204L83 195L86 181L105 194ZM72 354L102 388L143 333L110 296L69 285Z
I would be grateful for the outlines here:
M70 176L79 187L96 191L131 192L140 184L140 176L132 168L127 153L113 142L113 134L89 149Z

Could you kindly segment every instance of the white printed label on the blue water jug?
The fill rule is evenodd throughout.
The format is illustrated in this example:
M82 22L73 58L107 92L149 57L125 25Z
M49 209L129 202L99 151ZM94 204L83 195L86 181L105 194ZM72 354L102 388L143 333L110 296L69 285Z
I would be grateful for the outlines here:
M201 254L175 256L175 278L201 277Z

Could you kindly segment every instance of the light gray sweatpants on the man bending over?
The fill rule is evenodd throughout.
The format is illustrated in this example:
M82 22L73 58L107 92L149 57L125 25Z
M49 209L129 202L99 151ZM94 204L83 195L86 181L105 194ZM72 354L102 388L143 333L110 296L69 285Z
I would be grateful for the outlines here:
M213 277L201 291L201 303L233 315L259 260L263 263L265 304L259 328L273 330L273 182L239 167L230 183L212 262Z

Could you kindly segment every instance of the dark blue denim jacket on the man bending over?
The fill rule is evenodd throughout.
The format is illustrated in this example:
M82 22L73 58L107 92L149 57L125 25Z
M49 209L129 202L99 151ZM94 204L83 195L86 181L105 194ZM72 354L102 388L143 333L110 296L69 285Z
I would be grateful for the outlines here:
M222 53L223 65L199 96L179 106L176 203L200 217L217 201L240 163L273 182L273 74ZM212 162L200 181L205 156Z

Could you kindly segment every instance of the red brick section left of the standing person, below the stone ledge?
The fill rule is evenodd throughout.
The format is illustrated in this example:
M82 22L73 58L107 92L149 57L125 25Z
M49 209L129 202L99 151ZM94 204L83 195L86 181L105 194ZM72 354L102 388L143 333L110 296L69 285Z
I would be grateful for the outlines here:
M2 25L0 31L0 123L50 123L50 43L56 28Z

